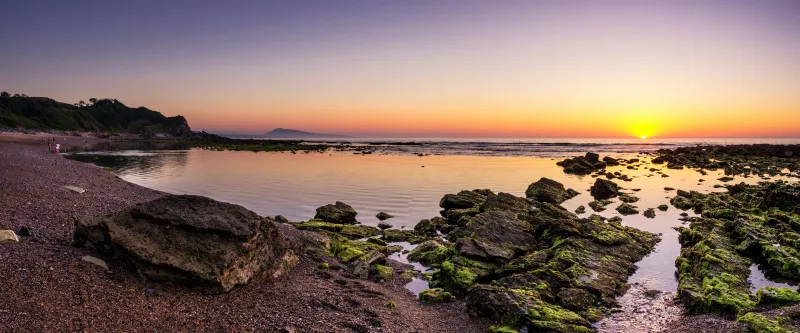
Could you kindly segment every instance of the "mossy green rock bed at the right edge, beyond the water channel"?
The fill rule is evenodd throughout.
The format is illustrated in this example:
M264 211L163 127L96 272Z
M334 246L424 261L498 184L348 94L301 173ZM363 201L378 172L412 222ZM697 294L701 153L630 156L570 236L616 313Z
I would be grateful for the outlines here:
M767 276L800 279L798 207L764 205L770 196L791 196L798 190L797 184L775 182L729 186L727 193L678 191L673 204L686 203L701 214L690 218L688 227L677 228L682 247L675 261L678 294L687 311L736 315L752 325L761 315L750 311L800 300L785 288L752 293L748 282L754 263ZM781 325L774 331L781 331Z

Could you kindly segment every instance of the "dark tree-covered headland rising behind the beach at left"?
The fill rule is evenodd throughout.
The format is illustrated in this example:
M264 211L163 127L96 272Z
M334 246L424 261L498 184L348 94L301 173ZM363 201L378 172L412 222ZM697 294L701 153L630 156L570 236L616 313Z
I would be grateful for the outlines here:
M0 95L0 128L78 132L192 134L186 118L166 117L145 107L129 108L115 99L81 106L45 97Z

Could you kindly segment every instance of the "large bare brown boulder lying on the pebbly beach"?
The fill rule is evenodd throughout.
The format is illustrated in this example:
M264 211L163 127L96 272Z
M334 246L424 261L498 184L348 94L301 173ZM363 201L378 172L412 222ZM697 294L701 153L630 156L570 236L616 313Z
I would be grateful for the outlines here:
M274 221L193 195L79 218L74 243L127 257L147 279L207 290L228 291L259 274L276 277L297 261Z

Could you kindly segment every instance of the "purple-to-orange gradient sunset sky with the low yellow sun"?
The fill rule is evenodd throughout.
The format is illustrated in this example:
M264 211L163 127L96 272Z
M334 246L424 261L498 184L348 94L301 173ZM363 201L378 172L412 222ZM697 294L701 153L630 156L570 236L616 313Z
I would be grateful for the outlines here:
M0 90L194 130L800 137L800 1L17 1Z

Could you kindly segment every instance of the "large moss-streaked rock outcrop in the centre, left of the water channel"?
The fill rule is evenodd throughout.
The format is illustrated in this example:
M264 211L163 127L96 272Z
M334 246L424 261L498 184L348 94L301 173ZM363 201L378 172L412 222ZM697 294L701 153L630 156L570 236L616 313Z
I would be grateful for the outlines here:
M579 218L550 198L447 195L442 216L458 216L446 220L455 226L447 241L423 243L409 259L438 268L431 287L466 296L475 314L512 327L591 332L659 239L600 216Z

